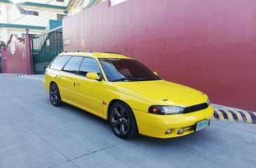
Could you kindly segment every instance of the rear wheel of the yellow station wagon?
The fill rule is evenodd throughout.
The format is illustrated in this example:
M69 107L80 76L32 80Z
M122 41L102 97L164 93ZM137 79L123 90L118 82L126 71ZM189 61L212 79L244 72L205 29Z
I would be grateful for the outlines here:
M62 100L60 98L59 88L57 84L52 83L50 85L50 102L52 105L58 107L62 105Z

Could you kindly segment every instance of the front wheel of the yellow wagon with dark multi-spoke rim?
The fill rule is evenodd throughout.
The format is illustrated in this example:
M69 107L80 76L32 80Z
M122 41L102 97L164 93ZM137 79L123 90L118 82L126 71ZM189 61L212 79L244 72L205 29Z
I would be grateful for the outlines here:
M129 139L138 135L134 113L124 102L115 102L111 106L108 119L116 136Z

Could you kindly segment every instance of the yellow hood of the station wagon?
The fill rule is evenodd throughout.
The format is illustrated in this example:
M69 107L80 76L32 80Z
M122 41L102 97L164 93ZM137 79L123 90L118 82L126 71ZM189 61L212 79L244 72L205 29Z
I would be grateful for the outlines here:
M206 94L201 91L164 80L114 82L113 84L120 86L122 89L129 90L129 93L145 96L155 102L155 105L178 105L187 107L206 102L208 98ZM127 93L127 91L124 91L124 93L125 92Z

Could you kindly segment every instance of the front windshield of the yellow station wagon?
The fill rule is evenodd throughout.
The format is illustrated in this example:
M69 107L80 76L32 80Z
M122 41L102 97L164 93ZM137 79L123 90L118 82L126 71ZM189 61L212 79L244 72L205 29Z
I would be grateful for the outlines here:
M99 59L99 62L110 82L160 80L134 59Z

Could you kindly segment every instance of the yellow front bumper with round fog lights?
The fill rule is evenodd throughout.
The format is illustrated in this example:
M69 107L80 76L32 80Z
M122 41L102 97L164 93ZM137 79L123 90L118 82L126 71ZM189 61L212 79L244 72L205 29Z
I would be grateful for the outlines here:
M213 116L213 107L210 105L207 109L187 114L157 115L148 112L141 112L133 109L138 132L141 135L157 138L171 138L188 135L194 132L197 122L205 119L211 119ZM183 134L179 135L178 130L184 128ZM172 129L171 134L165 134L167 129Z

